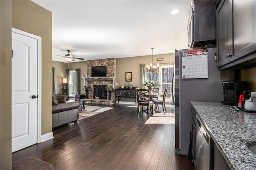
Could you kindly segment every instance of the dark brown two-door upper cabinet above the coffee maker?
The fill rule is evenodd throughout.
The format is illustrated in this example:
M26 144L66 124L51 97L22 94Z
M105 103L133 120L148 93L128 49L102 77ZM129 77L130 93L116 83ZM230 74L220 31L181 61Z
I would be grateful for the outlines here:
M256 67L256 1L217 0L215 5L219 70Z

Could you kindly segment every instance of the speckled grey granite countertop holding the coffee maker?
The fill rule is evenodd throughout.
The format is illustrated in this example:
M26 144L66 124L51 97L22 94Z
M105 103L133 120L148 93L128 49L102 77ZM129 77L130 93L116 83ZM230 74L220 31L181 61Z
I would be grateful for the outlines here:
M231 110L232 106L191 102L230 169L256 169L256 113Z

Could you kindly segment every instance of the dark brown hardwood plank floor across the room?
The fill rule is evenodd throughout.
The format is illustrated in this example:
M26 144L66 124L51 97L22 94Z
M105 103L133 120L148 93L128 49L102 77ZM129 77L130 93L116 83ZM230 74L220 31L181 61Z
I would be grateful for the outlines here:
M173 108L167 108L173 113ZM173 124L144 124L147 113L134 105L88 117L77 124L54 128L54 138L14 152L12 161L36 157L56 170L143 169L193 170L187 156L174 149Z

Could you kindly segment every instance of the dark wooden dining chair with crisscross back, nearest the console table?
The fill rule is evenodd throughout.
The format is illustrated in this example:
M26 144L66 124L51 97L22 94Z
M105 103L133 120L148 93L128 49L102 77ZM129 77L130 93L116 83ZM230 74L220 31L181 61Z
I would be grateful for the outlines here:
M138 115L140 114L141 106L142 106L142 112L144 111L143 106L147 107L148 114L153 112L154 102L150 101L149 89L137 89L137 102L138 102L138 107L137 107Z

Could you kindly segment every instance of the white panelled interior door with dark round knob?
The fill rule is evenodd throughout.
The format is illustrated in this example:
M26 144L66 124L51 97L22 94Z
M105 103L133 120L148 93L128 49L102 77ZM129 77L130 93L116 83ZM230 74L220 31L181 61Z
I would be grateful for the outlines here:
M12 152L38 142L38 40L12 32Z

